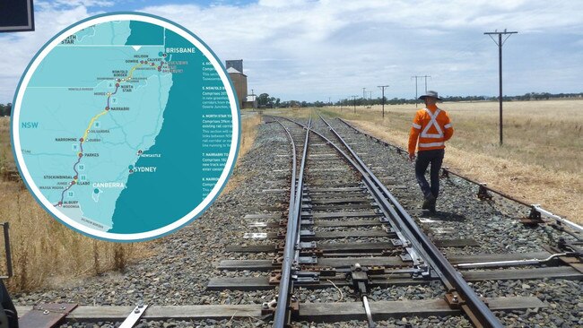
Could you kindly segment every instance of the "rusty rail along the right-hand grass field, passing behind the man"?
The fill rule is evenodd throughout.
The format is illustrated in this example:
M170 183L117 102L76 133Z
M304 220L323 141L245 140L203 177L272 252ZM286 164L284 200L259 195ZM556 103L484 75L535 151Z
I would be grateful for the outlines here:
M385 142L385 141L381 141L379 138L374 137L374 136L372 136L370 134L367 134L367 133L361 131L361 129L357 128L354 125L351 125L348 122L346 122L343 118L338 117L338 120L340 120L342 123L344 123L344 125L348 125L350 128L352 128L353 130L355 130L359 134L364 134L364 135L370 136L371 138L374 138L375 140L377 140L379 142L384 142L387 146L391 146L391 147L395 148L398 151L402 151L402 152L408 153L407 150L405 150L405 149L403 149L403 148L401 148L399 146L396 146L394 144L391 144L391 143L388 143L388 142ZM500 190L492 189L491 187L486 186L483 183L477 182L477 181L473 180L470 177L463 176L463 175L461 175L461 174L459 174L459 173L457 173L455 171L450 170L449 168L441 168L441 169L446 174L452 174L452 175L454 175L456 177L459 177L461 179L464 179L467 182L472 183L472 184L477 185L477 186L480 186L483 189L485 189L485 190L487 190L487 191L489 191L489 192L491 192L493 194L498 194L498 195L500 195L500 197L503 197L503 198L509 199L512 202L515 202L515 203L519 203L521 205L524 205L524 206L530 208L532 211L537 211L540 214L544 215L545 217L548 217L548 218L557 220L559 223L564 223L564 224L570 226L571 229L574 229L574 230L578 231L579 233L583 233L583 227L582 226L580 226L577 223L574 223L574 222L572 222L570 220L564 219L564 218L562 218L561 216L559 216L557 214L553 214L551 211L545 210L544 208L541 207L540 204L526 203L525 201L521 201L521 200L519 200L519 199L517 199L517 198L515 198L515 197L513 197L513 196L511 196L509 194L505 194L505 193L501 192Z

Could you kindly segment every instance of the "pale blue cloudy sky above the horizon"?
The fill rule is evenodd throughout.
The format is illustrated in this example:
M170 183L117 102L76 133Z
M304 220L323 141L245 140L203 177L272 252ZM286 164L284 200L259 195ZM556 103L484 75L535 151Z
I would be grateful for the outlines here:
M518 30L503 47L504 93L581 92L583 6L524 0L35 1L35 32L0 34L0 103L59 30L96 13L157 14L192 30L222 61L243 59L249 92L281 99L413 98L412 75L442 95L498 94L498 47L484 31ZM419 90L423 91L422 82Z

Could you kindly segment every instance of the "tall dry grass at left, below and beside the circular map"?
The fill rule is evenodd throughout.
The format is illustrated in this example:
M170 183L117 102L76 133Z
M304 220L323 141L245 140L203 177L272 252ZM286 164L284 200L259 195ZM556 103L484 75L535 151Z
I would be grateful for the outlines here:
M239 158L251 148L259 121L258 115L243 117ZM6 178L4 172L14 168L10 119L0 117L0 222L10 223L14 276L7 283L11 292L48 288L71 279L123 270L127 263L152 254L152 242L110 243L65 228L39 206L21 182ZM236 178L223 192L237 185ZM4 253L1 256L3 263ZM2 264L0 271L5 273Z

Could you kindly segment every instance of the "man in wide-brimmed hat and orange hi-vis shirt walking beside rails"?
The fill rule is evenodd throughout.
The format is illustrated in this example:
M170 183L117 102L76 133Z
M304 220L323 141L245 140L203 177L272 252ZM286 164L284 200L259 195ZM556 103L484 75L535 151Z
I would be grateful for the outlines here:
M427 91L419 97L425 101L425 108L419 109L409 134L409 160L415 160L415 146L418 146L415 161L415 177L421 186L425 198L422 209L435 212L435 203L439 195L439 168L445 154L445 142L454 134L448 113L437 107L441 100L436 91ZM419 143L417 143L419 140ZM431 163L431 186L425 178L425 171Z

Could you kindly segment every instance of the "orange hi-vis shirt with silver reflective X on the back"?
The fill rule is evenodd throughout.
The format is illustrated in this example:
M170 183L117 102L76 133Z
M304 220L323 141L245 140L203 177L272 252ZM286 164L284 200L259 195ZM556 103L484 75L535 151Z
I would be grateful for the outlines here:
M454 134L448 113L435 105L422 108L413 118L413 126L409 134L409 153L415 152L415 146L419 151L431 151L446 148L445 142ZM419 144L417 144L419 139Z

